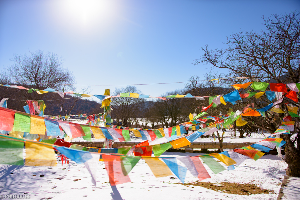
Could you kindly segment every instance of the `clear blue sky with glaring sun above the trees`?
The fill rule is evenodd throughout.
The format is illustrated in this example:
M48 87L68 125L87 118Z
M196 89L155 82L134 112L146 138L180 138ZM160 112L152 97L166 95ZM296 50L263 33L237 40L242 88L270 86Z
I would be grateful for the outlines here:
M299 7L288 0L0 0L0 67L13 64L13 54L40 49L62 56L77 84L184 82L207 71L193 65L205 44L224 47L226 36L240 29L263 29L263 15ZM121 86L92 86L90 94L115 87ZM159 96L184 84L136 87Z

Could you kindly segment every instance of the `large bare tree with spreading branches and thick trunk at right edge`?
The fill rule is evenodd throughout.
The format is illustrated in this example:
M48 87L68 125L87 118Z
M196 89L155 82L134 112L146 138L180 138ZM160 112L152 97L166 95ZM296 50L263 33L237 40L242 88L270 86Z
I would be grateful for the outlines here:
M212 67L228 69L228 76L250 77L251 81L274 83L297 83L300 81L300 13L290 12L285 15L274 14L263 18L265 31L240 31L227 39L226 49L209 50L208 45L202 48L203 56L195 61L210 64ZM231 83L243 83L243 79L227 79ZM253 91L250 89L250 91ZM241 91L240 91L241 92ZM251 98L253 101L253 98ZM243 99L247 103L247 99ZM268 105L269 101L262 97L254 99L256 108ZM285 103L299 107L299 103L283 100L280 109L288 114ZM265 112L266 117L247 117L253 126L273 133L285 115ZM299 121L298 118L294 119ZM284 135L286 146L285 161L292 176L300 176L300 137L299 128L291 135ZM295 147L298 145L298 148Z

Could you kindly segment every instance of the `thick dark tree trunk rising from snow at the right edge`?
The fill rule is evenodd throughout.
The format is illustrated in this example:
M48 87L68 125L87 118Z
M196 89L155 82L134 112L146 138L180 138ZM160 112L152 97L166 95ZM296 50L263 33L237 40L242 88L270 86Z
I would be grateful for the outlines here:
M284 135L286 141L284 160L288 165L286 170L289 172L289 176L300 177L300 151L295 148L290 137L290 135Z

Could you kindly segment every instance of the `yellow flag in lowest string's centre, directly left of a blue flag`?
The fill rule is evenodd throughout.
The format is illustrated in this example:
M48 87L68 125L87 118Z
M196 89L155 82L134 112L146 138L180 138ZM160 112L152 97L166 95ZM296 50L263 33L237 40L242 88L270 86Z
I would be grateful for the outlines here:
M168 166L158 158L143 156L143 159L146 161L156 178L173 175Z

